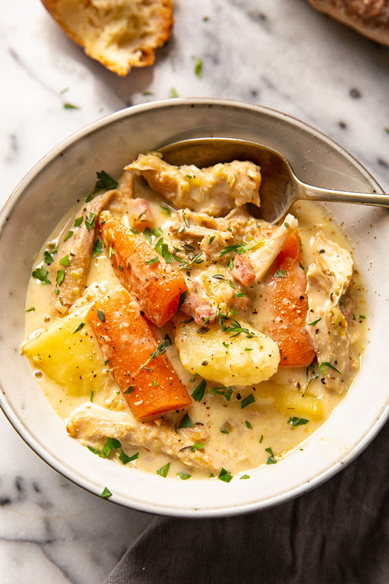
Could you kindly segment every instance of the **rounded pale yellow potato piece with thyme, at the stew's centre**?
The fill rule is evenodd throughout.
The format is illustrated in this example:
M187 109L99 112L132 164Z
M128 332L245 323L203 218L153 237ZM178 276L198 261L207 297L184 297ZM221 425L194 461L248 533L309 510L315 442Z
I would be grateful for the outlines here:
M224 322L226 327L230 326L230 321ZM247 338L241 332L230 338L234 333L222 331L218 323L198 328L195 322L181 322L175 343L185 369L226 386L269 379L278 368L278 345L246 322L241 321L240 325L255 336Z

